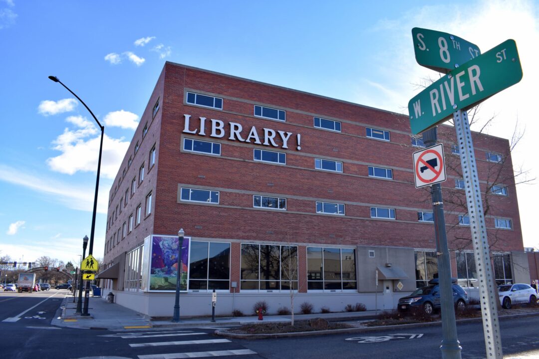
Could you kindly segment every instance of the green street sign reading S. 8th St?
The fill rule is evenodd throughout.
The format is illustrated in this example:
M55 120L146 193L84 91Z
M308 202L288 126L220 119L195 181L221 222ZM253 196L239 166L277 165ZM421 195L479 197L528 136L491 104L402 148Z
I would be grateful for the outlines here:
M444 74L481 54L477 45L446 32L414 27L412 38L417 63Z

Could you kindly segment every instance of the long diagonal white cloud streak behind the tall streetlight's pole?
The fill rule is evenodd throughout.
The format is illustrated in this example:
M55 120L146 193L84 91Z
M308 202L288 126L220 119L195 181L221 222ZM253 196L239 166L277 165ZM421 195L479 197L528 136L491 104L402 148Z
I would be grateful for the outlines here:
M118 166L116 167L118 168ZM52 202L61 203L67 208L92 212L94 203L94 186L73 186L64 181L33 174L18 168L0 164L0 181L29 188L44 194ZM100 183L98 195L98 213L107 213L109 186ZM4 244L2 244L4 245Z

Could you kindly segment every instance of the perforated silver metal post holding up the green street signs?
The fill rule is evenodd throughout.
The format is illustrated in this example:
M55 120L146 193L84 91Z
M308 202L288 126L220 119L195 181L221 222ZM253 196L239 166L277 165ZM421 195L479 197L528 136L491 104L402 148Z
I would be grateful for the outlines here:
M487 358L502 359L502 342L500 335L500 323L498 321L497 300L494 291L494 278L492 265L490 264L490 251L487 241L487 230L481 191L472 142L472 133L469 128L468 114L459 110L454 112L453 120L457 131L457 142L460 149L460 164L464 175L466 202L472 242L474 249L475 265L479 276L479 296L481 300L481 315L483 317L483 334Z

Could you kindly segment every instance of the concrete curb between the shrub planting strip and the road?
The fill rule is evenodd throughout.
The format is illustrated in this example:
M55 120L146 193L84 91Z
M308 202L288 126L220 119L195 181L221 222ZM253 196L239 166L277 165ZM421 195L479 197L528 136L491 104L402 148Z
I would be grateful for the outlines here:
M530 316L539 316L539 312L503 315L499 317L499 320L519 318L519 317L528 318ZM476 321L481 321L481 320L482 318L458 319L457 323L468 323L468 322L476 322ZM232 339L277 339L277 338L285 338L285 337L315 336L315 335L326 335L326 334L379 332L381 330L391 330L391 329L399 329L399 328L406 329L406 328L433 327L433 326L439 326L439 325L441 325L441 321L427 322L427 323L388 325L388 326L378 326L378 327L312 330L311 332L272 333L272 334L239 334L239 333L227 332L226 329L217 329L214 332L214 334L219 335L219 336L229 337Z

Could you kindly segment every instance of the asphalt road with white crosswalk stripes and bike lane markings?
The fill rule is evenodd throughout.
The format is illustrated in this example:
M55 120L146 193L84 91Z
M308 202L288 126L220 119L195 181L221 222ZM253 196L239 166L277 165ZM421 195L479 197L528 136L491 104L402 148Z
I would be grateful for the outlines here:
M439 358L441 327L267 340L226 339L213 328L90 330L55 327L67 291L0 293L0 358L241 359ZM500 321L505 358L539 357L539 317ZM482 324L457 326L465 359L484 358Z

